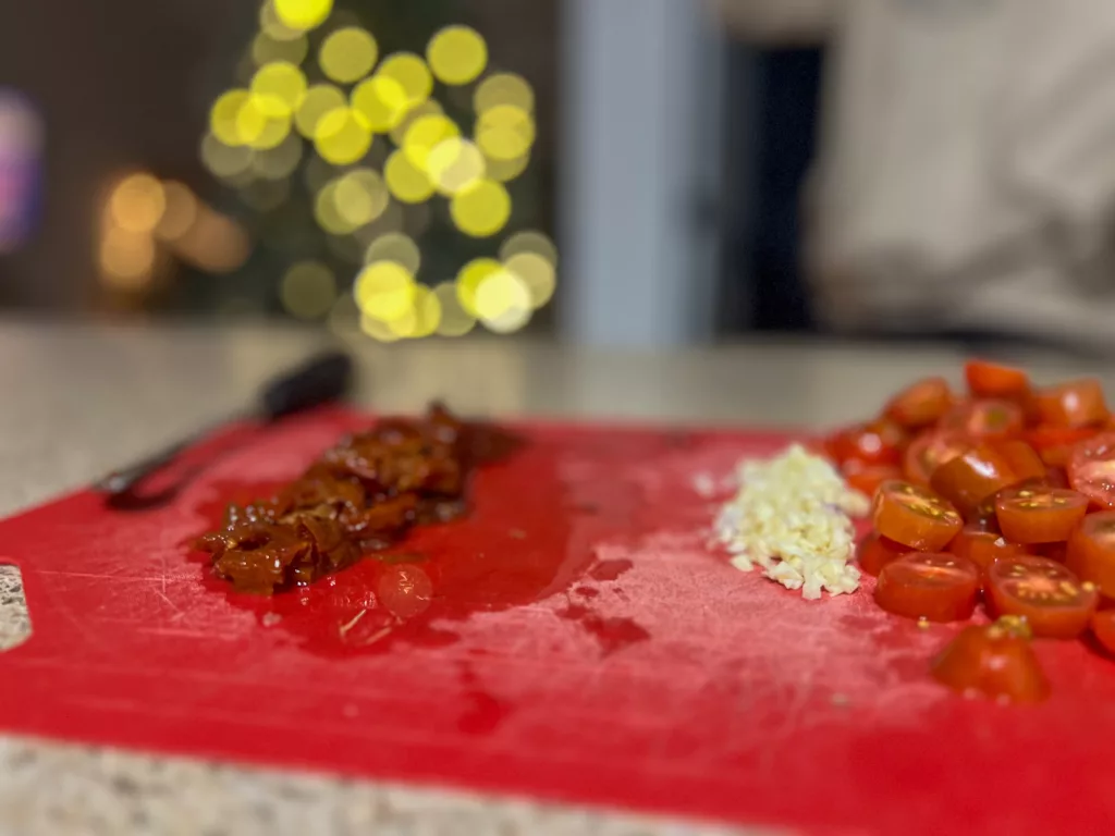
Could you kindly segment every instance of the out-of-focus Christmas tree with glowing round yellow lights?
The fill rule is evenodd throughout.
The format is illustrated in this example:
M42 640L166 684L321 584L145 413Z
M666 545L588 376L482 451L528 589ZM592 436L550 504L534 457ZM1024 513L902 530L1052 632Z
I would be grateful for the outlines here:
M508 333L550 301L533 90L460 7L263 4L201 142L255 241L213 299L380 340Z

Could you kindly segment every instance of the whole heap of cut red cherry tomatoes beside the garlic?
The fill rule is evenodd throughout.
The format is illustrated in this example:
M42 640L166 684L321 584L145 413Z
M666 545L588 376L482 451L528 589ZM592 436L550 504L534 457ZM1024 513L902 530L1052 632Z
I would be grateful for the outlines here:
M982 604L997 619L961 632L933 675L1034 701L1048 686L1031 636L1090 633L1115 654L1115 416L1095 379L1039 388L982 360L964 376L967 395L921 380L825 451L874 497L857 557L880 606L954 622Z

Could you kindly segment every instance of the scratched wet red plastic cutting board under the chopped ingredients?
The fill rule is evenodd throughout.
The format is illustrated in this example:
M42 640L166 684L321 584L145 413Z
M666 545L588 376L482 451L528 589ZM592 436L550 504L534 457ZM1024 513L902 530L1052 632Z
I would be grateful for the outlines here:
M250 436L165 509L80 493L0 524L35 629L0 654L0 723L801 833L1113 832L1115 664L1041 643L1048 703L967 701L927 679L954 628L888 616L870 583L803 601L707 547L695 476L777 435L531 425L400 563L273 600L207 577L184 542L224 502L367 420ZM394 585L416 566L425 611Z

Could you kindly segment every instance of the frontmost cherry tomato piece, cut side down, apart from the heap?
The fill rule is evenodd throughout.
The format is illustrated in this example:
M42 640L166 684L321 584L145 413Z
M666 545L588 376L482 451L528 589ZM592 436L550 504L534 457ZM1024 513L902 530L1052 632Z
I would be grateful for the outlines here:
M1049 696L1029 629L1010 616L964 628L933 660L930 673L954 691L1005 702L1040 702Z

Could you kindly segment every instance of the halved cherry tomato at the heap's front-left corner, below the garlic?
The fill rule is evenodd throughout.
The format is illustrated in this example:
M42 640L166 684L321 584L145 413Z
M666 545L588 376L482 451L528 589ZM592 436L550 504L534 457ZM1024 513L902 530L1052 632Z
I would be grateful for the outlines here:
M875 602L895 615L928 621L963 621L976 611L979 570L954 554L913 552L879 573Z

